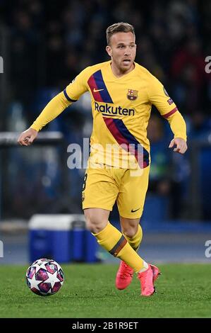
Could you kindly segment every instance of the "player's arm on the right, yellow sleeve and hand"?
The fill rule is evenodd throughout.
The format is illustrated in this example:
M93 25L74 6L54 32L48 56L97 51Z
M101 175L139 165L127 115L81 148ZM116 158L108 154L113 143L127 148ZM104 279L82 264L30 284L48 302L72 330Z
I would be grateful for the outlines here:
M171 140L169 148L174 147L174 152L184 154L188 147L186 143L186 123L183 116L158 79L151 76L147 90L150 102L156 106L162 117L168 120L174 133L174 139Z

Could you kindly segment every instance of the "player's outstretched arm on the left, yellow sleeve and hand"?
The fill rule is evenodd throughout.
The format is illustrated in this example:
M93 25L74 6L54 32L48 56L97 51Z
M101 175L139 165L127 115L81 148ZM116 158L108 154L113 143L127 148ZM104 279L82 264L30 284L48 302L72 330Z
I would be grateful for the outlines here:
M43 111L32 123L28 130L25 130L18 137L20 145L28 146L37 137L38 132L50 121L54 120L61 112L63 112L73 102L78 101L78 98L88 91L87 77L89 68L84 69L76 79L69 84L64 91L52 98L51 101L45 106Z

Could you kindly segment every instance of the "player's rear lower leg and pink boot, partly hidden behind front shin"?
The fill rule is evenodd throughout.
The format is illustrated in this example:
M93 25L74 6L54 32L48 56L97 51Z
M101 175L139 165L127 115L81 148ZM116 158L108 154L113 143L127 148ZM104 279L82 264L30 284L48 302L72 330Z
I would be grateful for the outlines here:
M139 224L140 219L123 218L120 216L121 232L128 243L137 252L143 237L142 228ZM116 288L125 289L129 286L133 278L133 269L128 264L121 261L119 270L116 273Z

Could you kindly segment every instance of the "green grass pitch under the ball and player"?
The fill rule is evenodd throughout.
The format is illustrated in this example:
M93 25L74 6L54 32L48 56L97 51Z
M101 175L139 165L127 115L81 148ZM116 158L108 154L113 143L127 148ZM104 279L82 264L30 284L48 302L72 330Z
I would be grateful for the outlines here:
M211 265L162 264L157 293L140 296L134 276L126 290L114 286L117 265L61 265L59 293L40 297L25 283L26 266L0 266L0 317L143 318L211 317Z

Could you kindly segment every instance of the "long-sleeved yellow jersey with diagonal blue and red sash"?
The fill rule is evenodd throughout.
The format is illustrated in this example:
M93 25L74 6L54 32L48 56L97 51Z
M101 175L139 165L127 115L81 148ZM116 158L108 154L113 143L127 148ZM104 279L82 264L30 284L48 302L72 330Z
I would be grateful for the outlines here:
M135 68L115 77L111 61L85 68L44 108L31 128L40 130L85 91L92 98L93 128L90 162L141 169L150 163L147 124L152 104L169 120L174 137L186 140L186 124L164 86L136 62Z

